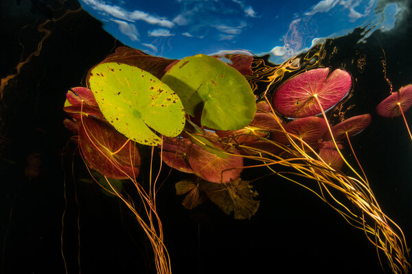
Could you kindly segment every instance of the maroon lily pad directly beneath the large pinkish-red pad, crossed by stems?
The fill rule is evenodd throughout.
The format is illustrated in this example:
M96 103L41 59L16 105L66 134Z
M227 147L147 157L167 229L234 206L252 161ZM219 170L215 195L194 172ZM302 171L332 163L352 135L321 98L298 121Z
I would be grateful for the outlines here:
M309 116L294 120L284 125L284 129L289 134L293 134L304 140L308 144L316 143L328 130L325 119ZM272 140L288 145L289 140L286 134L281 131L273 132Z

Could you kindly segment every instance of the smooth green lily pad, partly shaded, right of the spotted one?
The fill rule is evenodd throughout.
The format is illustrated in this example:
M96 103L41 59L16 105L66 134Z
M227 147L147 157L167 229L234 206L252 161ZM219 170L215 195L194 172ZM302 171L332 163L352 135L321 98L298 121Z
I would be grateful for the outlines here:
M187 114L195 116L203 107L201 123L206 127L236 130L255 116L255 96L247 80L211 56L184 58L161 81L179 95Z

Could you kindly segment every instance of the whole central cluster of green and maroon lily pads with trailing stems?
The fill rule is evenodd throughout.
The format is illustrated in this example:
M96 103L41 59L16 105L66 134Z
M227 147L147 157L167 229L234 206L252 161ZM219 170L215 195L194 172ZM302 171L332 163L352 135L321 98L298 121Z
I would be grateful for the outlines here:
M354 116L334 126L327 116L350 91L350 73L318 68L279 82L275 75L295 64L290 60L264 81L266 90L256 101L253 86L259 77L251 67L253 57L225 55L231 64L218 57L174 61L119 48L89 71L87 88L67 92L64 110L73 121L65 125L78 136L73 140L88 169L102 175L91 173L95 182L119 197L144 229L157 272L170 273L171 266L157 214L162 164L153 179L155 151L172 169L195 175L174 182L176 194L186 195L187 209L209 199L236 219L251 218L259 207L258 193L241 175L264 166L310 190L362 229L393 273L408 273L402 230L382 212L365 173L359 175L350 165L339 141L346 138L350 144L349 137L369 125L371 116ZM269 100L268 91L275 84ZM139 151L147 149L150 178L144 186L139 166L146 159ZM143 210L137 210L137 201L113 179L133 183Z

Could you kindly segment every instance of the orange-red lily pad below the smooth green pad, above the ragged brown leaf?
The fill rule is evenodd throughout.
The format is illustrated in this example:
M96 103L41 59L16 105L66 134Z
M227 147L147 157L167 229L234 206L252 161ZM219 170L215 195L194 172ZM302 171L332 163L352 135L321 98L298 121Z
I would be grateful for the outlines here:
M215 146L223 149L223 147L217 143ZM233 147L227 149L227 152L240 155L238 150ZM218 155L210 153L196 144L193 144L190 149L187 150L187 158L194 173L214 183L227 183L240 177L243 158L236 155L220 158Z

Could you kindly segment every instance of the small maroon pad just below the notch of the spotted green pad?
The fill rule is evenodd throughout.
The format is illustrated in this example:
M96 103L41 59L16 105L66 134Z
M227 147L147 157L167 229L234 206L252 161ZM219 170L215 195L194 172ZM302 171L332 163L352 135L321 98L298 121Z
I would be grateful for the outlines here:
M187 149L192 142L187 138L164 138L162 160L172 169L193 173L187 162Z

